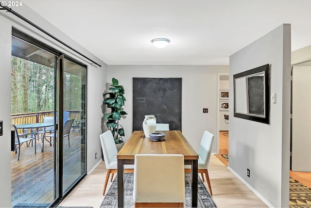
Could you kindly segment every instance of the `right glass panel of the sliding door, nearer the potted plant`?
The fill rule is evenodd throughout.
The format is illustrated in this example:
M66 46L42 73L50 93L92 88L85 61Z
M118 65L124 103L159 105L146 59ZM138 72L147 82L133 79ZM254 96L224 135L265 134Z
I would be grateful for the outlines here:
M63 194L86 174L86 66L63 59Z

